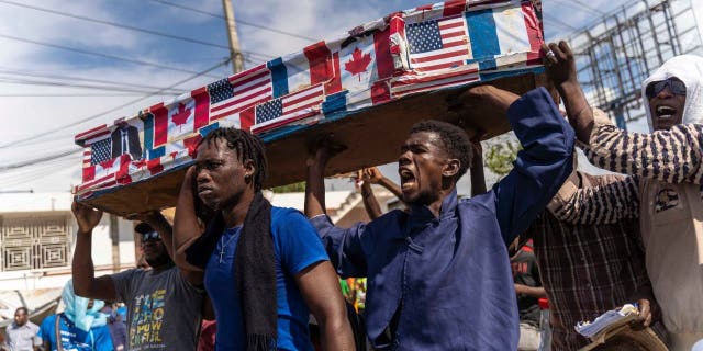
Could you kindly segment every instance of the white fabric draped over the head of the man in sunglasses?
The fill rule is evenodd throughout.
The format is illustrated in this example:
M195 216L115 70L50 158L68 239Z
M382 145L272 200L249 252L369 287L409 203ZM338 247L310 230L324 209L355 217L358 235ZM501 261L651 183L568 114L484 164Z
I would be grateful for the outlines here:
M645 90L652 81L676 77L685 84L685 105L683 107L683 124L703 124L703 57L681 55L667 60L655 70L641 84L641 97L647 112L649 131L652 131L651 111Z

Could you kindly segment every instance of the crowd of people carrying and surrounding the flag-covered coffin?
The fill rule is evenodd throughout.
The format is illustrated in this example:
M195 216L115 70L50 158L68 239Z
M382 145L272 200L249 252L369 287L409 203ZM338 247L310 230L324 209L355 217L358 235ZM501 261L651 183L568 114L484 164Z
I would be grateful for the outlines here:
M102 213L75 203L66 308L41 327L18 309L10 350L578 350L590 340L577 322L626 303L670 350L703 348L703 58L674 57L643 82L643 134L589 105L566 43L543 50L558 97L486 84L458 98L506 115L522 145L490 189L480 143L428 116L399 146L400 185L360 172L371 220L342 228L325 208L325 167L343 149L333 136L301 165L300 213L264 197L263 141L219 128L198 147L172 226L131 217L149 269L100 278ZM577 170L574 147L622 174ZM458 199L467 172L471 196ZM383 214L372 183L405 210Z

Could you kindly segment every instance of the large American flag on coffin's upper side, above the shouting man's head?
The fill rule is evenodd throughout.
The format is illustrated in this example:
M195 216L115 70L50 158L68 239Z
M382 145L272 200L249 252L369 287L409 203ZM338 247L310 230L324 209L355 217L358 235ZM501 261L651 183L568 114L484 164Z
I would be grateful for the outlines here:
M434 73L470 58L462 15L408 24L405 33L411 67L417 72Z

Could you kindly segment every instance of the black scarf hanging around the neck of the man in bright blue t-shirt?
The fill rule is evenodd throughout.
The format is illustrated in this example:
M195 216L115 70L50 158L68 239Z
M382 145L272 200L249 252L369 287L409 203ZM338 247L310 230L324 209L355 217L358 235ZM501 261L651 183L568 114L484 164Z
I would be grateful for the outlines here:
M217 213L205 234L186 250L186 260L204 270L224 230L224 218ZM246 213L234 258L247 351L276 350L278 303L274 256L271 204L258 191Z

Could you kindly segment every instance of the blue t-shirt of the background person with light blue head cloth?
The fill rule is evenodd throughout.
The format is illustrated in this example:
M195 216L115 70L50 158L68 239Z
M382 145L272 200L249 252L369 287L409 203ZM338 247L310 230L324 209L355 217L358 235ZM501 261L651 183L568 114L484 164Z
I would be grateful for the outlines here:
M112 351L112 339L108 325L91 328L90 331L78 329L64 314L52 315L42 321L37 336L43 341L52 343L52 351L56 347L56 317L60 316L62 346L65 351Z

